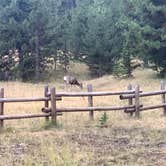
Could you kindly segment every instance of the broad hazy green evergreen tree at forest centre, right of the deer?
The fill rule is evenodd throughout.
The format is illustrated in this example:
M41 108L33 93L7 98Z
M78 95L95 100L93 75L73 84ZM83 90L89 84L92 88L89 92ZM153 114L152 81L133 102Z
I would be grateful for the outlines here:
M116 26L120 3L121 0L81 1L77 7L74 20L75 48L76 52L86 55L85 62L92 75L111 73L113 64L120 55L122 42Z

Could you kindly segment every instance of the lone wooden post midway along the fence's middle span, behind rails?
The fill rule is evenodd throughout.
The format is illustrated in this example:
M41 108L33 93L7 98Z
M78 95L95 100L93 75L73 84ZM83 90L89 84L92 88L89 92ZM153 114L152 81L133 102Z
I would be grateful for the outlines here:
M93 88L92 85L87 85L88 92L92 92ZM88 107L93 107L93 96L88 96ZM89 119L94 120L94 112L93 110L89 111Z

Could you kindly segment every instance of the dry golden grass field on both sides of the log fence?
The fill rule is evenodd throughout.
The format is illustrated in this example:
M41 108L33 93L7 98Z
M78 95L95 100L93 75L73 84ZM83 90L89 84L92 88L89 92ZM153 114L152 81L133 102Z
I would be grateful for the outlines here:
M139 84L143 91L159 90L160 81L151 70L137 70L132 79L104 76L87 80L94 91L126 90L127 85ZM60 82L47 83L63 91ZM41 97L44 84L1 82L5 97ZM79 91L74 88L73 91ZM84 88L86 91L86 88ZM142 98L141 103L161 103L161 96ZM95 97L95 106L124 105L116 97ZM40 112L44 103L5 104L5 114ZM87 98L64 98L58 107L87 106ZM123 111L107 113L107 127L100 127L103 112L95 112L89 121L88 113L64 113L58 126L45 119L5 121L0 133L0 166L96 166L131 165L161 166L166 163L166 118L162 110L145 111L140 119Z

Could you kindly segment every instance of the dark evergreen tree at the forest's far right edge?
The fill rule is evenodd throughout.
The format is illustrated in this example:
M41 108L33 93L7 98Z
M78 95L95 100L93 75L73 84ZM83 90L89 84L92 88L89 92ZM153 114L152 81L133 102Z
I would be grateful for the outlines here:
M166 1L147 0L142 12L143 37L148 59L166 76Z

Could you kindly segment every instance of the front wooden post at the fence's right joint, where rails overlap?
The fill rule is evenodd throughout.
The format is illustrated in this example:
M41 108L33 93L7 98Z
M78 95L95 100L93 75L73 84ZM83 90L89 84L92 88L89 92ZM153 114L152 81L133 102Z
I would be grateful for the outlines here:
M139 91L140 87L139 85L135 88L135 117L140 117L140 101L139 101Z

